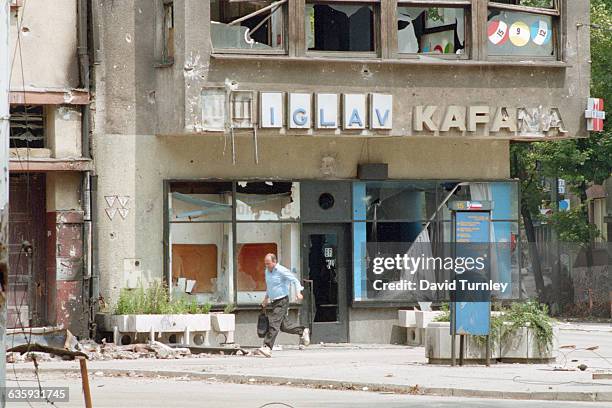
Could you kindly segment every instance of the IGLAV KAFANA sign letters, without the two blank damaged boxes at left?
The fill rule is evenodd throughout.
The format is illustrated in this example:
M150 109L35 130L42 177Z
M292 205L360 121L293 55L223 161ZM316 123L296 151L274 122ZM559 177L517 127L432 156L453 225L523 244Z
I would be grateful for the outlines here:
M414 132L476 133L481 127L489 134L510 132L517 137L567 132L558 108L417 105L411 109ZM289 93L285 101L283 92L261 92L259 98L263 129L390 131L393 111L393 95L381 93Z

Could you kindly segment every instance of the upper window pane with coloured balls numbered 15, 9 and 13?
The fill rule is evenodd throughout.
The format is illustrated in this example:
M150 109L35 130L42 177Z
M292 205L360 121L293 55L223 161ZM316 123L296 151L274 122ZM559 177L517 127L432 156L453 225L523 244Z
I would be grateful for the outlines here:
M556 0L489 2L488 53L491 56L554 57L558 42Z

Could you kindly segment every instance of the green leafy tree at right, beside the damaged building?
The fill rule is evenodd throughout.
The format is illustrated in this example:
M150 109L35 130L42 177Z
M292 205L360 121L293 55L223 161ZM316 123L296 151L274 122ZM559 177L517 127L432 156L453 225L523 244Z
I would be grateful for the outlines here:
M546 7L549 3L549 0L521 2L523 5L535 7ZM612 102L612 0L591 1L590 32L591 94ZM510 157L512 175L521 183L521 215L530 243L536 286L542 294L539 258L537 251L533 251L533 221L539 217L539 206L546 199L541 179L558 177L566 180L568 187L585 203L589 185L601 184L612 173L612 123L607 121L604 132L592 133L584 139L516 143L511 146ZM561 240L585 244L591 243L598 234L594 226L589 225L584 205L569 213L554 214L551 222Z

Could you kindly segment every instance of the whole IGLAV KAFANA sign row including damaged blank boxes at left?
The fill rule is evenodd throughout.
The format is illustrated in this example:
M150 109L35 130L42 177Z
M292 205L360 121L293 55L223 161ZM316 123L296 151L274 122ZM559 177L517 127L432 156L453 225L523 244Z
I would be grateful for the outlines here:
M342 130L363 136L460 133L543 138L567 133L556 107L410 105L404 100L397 103L393 95L383 93L238 92L239 97L232 94L229 98L223 91L203 95L204 130L225 131L232 124L239 128L302 130L314 134L339 134ZM226 110L228 99L230 109ZM394 120L399 122L395 126Z

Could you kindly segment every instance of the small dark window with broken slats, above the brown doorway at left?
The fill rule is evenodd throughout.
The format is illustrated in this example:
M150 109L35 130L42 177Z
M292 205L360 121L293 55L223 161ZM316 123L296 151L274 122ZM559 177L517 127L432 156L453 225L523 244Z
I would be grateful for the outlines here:
M45 147L45 110L42 105L11 105L10 147Z

